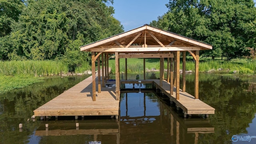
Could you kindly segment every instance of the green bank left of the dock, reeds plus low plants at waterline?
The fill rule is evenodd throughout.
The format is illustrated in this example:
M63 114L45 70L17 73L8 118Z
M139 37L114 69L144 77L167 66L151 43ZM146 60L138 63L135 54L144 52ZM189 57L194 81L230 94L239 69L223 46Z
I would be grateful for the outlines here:
M90 65L84 63L76 67L75 74L84 74L90 70ZM9 90L23 88L30 84L43 82L42 76L68 75L68 65L60 61L0 61L0 94Z

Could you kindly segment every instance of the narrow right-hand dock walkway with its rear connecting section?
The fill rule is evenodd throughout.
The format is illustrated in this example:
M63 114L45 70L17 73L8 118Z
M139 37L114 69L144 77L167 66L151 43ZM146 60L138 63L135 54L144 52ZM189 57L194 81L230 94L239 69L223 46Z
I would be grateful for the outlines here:
M122 80L121 84L138 84L139 80ZM208 104L202 102L199 99L195 99L194 96L188 94L187 92L182 92L180 89L180 99L176 100L176 87L174 86L173 94L170 95L170 83L165 80L162 81L162 86L160 86L160 80L140 80L141 83L152 83L156 88L160 89L162 93L166 94L170 98L171 102L174 102L178 108L184 111L184 117L186 114L214 114L215 109Z

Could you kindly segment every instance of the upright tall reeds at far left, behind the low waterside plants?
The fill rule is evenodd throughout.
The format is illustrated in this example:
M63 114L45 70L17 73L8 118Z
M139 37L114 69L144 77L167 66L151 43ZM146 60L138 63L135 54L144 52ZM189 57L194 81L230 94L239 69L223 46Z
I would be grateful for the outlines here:
M53 60L0 61L0 73L6 76L49 76L68 73L68 66Z

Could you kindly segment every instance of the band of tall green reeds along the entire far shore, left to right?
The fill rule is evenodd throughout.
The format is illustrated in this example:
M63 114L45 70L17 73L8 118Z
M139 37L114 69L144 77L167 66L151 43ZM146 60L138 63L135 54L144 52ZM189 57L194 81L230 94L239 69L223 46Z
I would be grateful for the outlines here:
M134 62L128 63L127 72L129 74L142 74L143 73L143 59L132 60ZM120 63L122 61L120 60ZM110 60L110 65L112 73L115 72L114 60ZM164 67L167 69L167 61L164 62ZM159 70L160 62L146 62L146 69ZM182 63L180 64L182 68ZM84 62L80 66L76 66L74 74L84 74L84 72L90 70L90 65ZM186 70L194 72L194 62L189 60L186 62ZM240 62L224 61L220 62L218 60L207 60L202 61L199 64L200 72L212 72L218 70L226 70L231 74L245 74L252 75L256 74L256 62L241 60ZM120 64L120 72L125 72L125 64ZM61 61L54 60L43 60L43 61L0 61L0 74L6 76L14 75L30 75L30 76L54 76L54 75L68 75L70 74L68 70L68 64Z

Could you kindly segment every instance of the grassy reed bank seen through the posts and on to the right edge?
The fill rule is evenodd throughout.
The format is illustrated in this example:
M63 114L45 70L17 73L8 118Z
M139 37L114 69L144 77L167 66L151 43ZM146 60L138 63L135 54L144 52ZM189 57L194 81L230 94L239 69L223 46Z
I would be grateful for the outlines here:
M115 60L109 61L112 73L115 72ZM164 68L167 69L167 60L164 62ZM182 68L182 62L180 64ZM188 59L186 62L186 70L194 72L195 63ZM142 74L143 73L143 58L128 58L127 59L127 71L130 74ZM146 69L152 70L160 69L159 58L146 59ZM199 64L200 72L214 72L218 70L229 71L230 74L256 74L256 62L248 61L246 59L225 61L225 60L202 60ZM125 59L120 59L120 72L125 72Z

